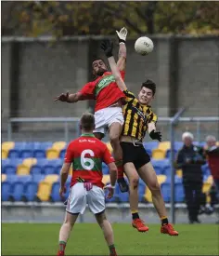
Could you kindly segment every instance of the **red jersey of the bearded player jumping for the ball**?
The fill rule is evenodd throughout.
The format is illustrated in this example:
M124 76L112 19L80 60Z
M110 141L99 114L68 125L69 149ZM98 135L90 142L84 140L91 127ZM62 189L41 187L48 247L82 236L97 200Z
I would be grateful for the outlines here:
M125 72L121 71L122 79L124 79L124 74ZM79 92L82 93L84 100L96 100L95 112L125 97L110 72L105 72L95 81L87 83Z

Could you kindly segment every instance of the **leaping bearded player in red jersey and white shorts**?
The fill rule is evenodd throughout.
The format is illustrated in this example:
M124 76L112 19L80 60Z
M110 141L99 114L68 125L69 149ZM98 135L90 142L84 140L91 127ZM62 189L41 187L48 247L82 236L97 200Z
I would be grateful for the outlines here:
M117 66L121 72L122 79L125 74L126 47L125 40L127 30L122 28L117 32L120 42L119 61ZM74 94L62 93L55 101L66 101L74 103L84 100L96 100L95 107L95 136L102 140L105 131L109 128L110 143L113 149L116 166L118 168L118 182L122 192L128 191L128 185L123 179L122 169L122 148L120 146L120 135L122 132L123 115L122 99L125 98L123 92L118 88L114 76L108 71L106 63L101 59L96 59L92 63L93 74L96 79L84 85L80 91Z

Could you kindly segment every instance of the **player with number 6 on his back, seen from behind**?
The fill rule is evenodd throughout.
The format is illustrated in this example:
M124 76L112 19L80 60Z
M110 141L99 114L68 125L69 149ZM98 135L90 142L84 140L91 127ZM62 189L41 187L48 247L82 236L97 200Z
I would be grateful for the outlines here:
M105 194L102 183L102 162L110 168L110 184L105 188L110 190L108 198L114 193L117 180L117 168L106 144L99 141L93 134L95 117L84 114L81 118L82 135L71 141L65 155L64 164L60 172L59 195L66 192L65 183L72 164L71 192L68 198L66 217L59 232L58 255L65 255L65 247L71 228L79 214L83 214L88 204L95 214L97 222L103 230L104 237L110 249L110 256L116 256L113 231L105 214Z

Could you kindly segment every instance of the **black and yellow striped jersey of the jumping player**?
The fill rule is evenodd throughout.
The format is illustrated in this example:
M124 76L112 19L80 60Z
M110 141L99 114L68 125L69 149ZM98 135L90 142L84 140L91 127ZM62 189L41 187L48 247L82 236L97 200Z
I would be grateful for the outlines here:
M148 123L157 123L158 117L150 106L142 105L135 98L135 95L129 91L123 91L125 94L125 104L123 106L124 124L122 135L132 136L137 141L142 141L148 130Z

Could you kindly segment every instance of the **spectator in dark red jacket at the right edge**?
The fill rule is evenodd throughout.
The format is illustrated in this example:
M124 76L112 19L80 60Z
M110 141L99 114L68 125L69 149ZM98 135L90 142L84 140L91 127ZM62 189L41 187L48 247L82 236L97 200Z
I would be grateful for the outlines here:
M213 183L216 189L217 201L219 200L219 147L216 145L216 138L209 135L205 139L205 155L213 176ZM219 221L218 221L219 222Z

